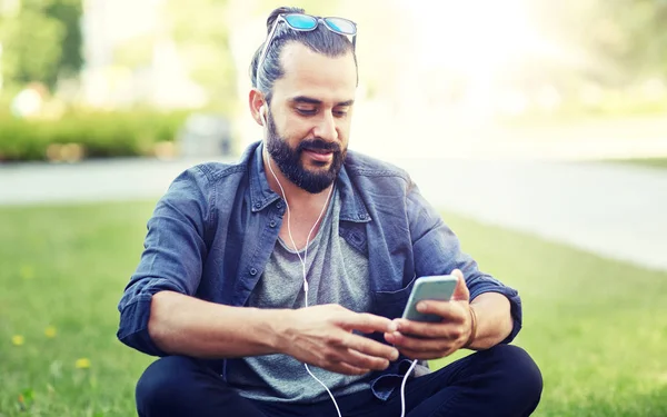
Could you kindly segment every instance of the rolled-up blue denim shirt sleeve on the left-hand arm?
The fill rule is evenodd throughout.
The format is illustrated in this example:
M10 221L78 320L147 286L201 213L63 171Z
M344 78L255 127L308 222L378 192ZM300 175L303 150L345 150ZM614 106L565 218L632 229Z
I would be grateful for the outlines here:
M148 334L150 304L159 291L193 295L207 256L210 198L199 167L181 173L158 201L148 221L143 252L118 304L118 338L148 355L165 356Z

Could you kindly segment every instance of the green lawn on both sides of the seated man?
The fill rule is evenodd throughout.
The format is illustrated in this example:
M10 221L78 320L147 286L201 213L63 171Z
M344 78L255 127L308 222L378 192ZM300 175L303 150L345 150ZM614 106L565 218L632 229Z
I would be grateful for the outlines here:
M0 208L0 416L136 415L152 358L116 340L116 304L151 210ZM446 218L482 269L521 291L516 344L545 378L537 416L667 415L667 274Z

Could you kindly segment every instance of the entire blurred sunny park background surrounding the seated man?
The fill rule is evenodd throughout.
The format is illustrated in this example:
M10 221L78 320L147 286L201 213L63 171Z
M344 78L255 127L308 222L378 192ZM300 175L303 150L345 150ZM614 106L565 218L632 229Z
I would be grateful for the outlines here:
M116 302L170 181L261 138L286 4L0 0L0 416L136 414ZM358 23L350 148L519 289L536 415L667 416L667 1L288 6Z

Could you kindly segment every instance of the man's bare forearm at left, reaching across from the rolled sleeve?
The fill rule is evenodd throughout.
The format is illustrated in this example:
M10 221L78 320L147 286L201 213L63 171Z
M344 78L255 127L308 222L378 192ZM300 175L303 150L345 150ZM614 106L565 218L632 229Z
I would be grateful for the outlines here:
M168 354L230 358L277 353L282 310L230 307L172 291L152 297L148 331Z

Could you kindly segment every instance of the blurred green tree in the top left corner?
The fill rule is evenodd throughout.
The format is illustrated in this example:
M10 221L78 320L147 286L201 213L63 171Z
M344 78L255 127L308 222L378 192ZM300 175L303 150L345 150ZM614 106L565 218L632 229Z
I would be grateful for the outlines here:
M23 0L0 14L2 75L8 85L41 81L53 88L61 73L81 68L80 0Z

